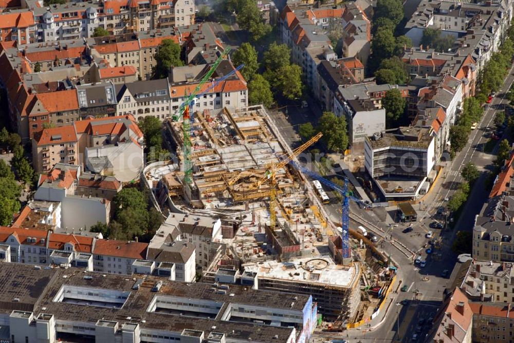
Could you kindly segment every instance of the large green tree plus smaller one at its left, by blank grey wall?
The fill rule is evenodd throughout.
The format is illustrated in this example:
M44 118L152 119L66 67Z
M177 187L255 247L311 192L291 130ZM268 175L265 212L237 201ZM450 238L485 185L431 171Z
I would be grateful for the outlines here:
M311 123L301 124L299 127L300 137L304 140L318 132L322 132L322 140L328 150L344 151L348 147L348 130L344 116L336 117L334 112L323 112L317 127Z

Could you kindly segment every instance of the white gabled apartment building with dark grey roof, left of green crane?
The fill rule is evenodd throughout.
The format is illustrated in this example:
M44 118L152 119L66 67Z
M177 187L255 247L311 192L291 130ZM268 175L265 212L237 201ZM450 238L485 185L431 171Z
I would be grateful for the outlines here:
M132 114L138 121L151 116L161 121L171 116L168 79L116 85L117 113Z

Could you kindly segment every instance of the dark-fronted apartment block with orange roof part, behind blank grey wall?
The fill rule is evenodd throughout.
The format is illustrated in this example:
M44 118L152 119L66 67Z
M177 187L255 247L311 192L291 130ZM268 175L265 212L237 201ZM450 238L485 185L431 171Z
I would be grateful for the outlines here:
M321 61L317 68L319 88L315 95L323 110L334 111L334 97L339 86L364 80L364 66L356 58Z

